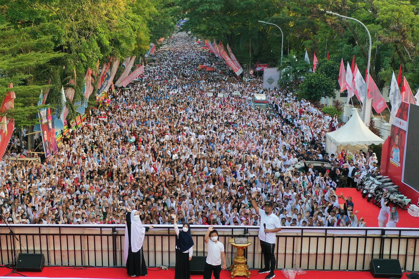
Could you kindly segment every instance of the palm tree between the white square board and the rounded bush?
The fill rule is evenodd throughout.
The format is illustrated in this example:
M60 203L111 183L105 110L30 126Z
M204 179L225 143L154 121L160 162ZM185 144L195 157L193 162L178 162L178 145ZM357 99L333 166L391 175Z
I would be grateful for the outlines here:
M281 71L281 79L278 81L280 86L292 85L296 87L305 75L310 72L311 65L304 58L297 59L295 52L292 50L287 56L282 58L282 65L278 67Z

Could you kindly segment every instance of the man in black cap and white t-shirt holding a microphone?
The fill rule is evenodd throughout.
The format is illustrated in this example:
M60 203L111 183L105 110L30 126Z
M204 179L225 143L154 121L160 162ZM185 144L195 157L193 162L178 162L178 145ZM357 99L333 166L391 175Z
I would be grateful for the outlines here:
M273 213L274 204L270 201L265 202L264 210L260 210L256 204L256 192L252 194L252 205L256 213L261 216L259 227L259 239L261 250L265 260L265 268L258 271L261 273L269 273L266 279L275 277L274 269L276 264L275 259L275 242L277 232L281 230L281 220Z

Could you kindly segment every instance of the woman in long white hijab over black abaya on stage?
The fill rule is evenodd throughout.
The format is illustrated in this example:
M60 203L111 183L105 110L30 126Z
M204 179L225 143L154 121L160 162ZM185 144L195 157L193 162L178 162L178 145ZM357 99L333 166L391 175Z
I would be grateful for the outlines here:
M132 277L146 276L147 266L142 251L142 243L144 242L145 232L152 229L153 225L144 227L137 210L132 210L126 218L124 256L127 262L127 274Z

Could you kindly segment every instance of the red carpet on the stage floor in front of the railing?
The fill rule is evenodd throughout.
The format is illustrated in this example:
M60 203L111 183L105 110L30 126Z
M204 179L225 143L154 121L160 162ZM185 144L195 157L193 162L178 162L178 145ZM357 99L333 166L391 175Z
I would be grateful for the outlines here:
M0 275L7 274L10 269L0 268ZM118 279L131 279L143 277L130 277L124 268L82 268L82 267L45 267L42 272L21 272L30 277L66 277L66 278L118 278ZM256 270L251 271L251 278L264 279L267 274L258 274ZM15 274L16 275L16 274ZM158 279L172 279L175 276L174 269L164 271L161 269L149 269L148 276L145 278L158 278ZM372 279L369 271L307 271L306 274L295 276L296 279L324 279L324 278L353 278L357 279ZM0 278L12 278L1 277ZM212 277L214 278L214 277ZM235 278L246 278L244 276L236 276ZM275 271L275 278L285 279L282 271ZM406 279L406 274L403 274ZM202 275L192 275L191 279L202 279ZM221 271L221 279L230 279L229 271Z

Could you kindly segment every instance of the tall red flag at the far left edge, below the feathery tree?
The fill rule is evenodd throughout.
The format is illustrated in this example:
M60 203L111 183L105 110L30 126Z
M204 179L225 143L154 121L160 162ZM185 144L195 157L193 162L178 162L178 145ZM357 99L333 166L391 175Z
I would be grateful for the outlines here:
M9 88L13 88L13 84L10 83ZM4 97L3 104L0 107L0 112L3 114L8 109L15 107L15 92L7 92ZM15 119L3 116L0 118L0 159L3 158L4 152L6 151L7 145L9 144L10 138L15 129Z

